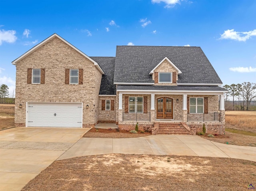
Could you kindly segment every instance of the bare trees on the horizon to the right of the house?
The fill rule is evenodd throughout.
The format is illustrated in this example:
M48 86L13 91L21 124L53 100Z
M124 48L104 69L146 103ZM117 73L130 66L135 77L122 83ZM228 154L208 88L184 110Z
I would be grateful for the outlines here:
M250 104L256 100L256 83L243 82L242 84L224 85L228 92L224 93L225 101L232 97L233 110L235 110L235 99L238 100L236 110L250 110Z

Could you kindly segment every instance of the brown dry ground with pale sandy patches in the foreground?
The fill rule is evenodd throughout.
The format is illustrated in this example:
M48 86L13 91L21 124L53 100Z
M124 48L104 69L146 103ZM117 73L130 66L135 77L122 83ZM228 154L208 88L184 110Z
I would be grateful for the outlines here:
M22 191L226 191L256 185L256 163L232 158L110 154L55 161Z

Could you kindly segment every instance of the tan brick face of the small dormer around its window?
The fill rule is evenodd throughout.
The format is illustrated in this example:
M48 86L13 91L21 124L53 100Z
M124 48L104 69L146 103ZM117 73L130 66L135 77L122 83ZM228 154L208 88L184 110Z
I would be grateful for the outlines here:
M164 60L155 70L155 72L176 72L176 81L178 80L178 71L167 61ZM155 74L152 74L152 80L155 79ZM155 83L157 86L176 86L177 83Z

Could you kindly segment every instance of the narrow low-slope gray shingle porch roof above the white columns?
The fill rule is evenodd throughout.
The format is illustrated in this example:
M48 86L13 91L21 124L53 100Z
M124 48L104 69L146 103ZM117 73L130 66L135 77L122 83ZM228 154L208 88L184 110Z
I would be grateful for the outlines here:
M117 90L170 90L170 91L226 91L219 86L143 86L143 85L117 85Z

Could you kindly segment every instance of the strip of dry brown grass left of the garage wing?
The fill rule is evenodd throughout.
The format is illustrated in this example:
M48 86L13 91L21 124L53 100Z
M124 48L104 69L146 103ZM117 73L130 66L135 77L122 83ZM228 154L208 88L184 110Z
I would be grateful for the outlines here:
M14 104L0 104L0 129L14 126Z

